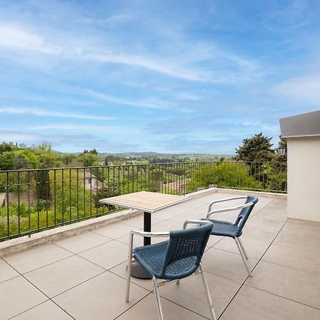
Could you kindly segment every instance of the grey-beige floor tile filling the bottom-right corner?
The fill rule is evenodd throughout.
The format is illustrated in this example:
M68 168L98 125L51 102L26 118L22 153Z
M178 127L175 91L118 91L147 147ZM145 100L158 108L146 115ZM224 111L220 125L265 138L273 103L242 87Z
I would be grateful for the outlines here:
M319 320L320 310L243 286L220 320Z

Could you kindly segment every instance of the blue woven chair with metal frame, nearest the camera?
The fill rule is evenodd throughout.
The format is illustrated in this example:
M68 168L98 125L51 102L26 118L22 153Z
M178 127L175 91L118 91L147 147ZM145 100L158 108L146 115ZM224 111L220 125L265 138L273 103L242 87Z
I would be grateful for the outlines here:
M201 223L202 225L199 228L186 229L186 226L189 223ZM126 302L129 302L132 258L134 258L139 265L149 273L152 279L159 319L164 319L160 302L159 286L168 282L178 281L193 273L200 272L210 308L210 314L212 319L216 320L208 283L201 264L201 257L203 256L212 228L213 224L209 221L203 223L201 220L187 220L183 225L183 230L174 230L164 233L132 231L129 240ZM142 235L150 238L169 237L169 240L156 243L155 245L145 245L144 247L136 247L133 249L134 235ZM157 282L157 279L163 281Z

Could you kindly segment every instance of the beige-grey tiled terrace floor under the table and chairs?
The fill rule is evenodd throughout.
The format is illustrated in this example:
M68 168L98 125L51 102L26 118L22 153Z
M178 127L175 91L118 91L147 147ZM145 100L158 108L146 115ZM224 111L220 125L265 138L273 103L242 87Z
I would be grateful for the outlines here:
M153 229L181 228L228 196L235 195L213 193L154 213ZM0 319L158 319L151 281L132 278L124 302L127 235L137 228L142 216L0 260ZM242 240L251 279L232 239L210 238L203 257L220 319L319 320L320 223L288 220L284 199L260 196ZM199 275L160 293L165 319L209 318Z

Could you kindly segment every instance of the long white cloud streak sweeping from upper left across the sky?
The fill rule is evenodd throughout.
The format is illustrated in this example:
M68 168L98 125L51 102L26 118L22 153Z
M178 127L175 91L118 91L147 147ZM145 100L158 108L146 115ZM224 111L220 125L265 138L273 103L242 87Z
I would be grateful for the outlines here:
M65 35L63 37L55 36L55 38L65 38ZM70 43L72 43L72 46ZM82 43L85 43L85 38L82 39ZM164 58L159 55L134 55L132 53L123 53L123 48L112 47L112 50L110 48L95 48L92 43L79 45L77 39L69 42L65 40L64 43L57 44L48 41L45 36L31 33L20 26L2 24L0 25L0 46L14 50L32 50L63 58L90 60L96 63L129 65L161 73L171 78L196 82L228 83L237 82L238 80L250 80L252 77L255 78L254 74L260 76L257 72L257 65L252 61L225 52L225 50L209 50L209 48L213 49L213 47L206 45L200 46L201 50L195 46L188 53L184 53L183 56L174 54ZM208 72L208 70L194 66L194 64L206 60L218 65L218 68L213 68ZM219 65L228 65L239 70L235 72L226 72L224 70L221 72Z

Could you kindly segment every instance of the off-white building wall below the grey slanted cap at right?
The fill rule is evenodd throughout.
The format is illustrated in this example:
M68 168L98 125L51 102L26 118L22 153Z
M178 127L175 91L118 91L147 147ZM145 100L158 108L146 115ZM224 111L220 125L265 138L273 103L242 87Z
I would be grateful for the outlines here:
M320 222L320 137L287 138L289 218Z

